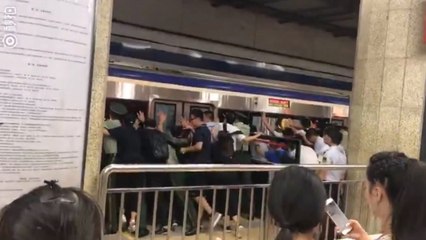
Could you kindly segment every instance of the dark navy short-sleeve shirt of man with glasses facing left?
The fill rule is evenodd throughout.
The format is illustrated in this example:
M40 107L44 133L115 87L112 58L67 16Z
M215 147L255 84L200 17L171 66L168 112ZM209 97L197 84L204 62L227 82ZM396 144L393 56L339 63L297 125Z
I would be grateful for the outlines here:
M191 152L188 155L189 163L212 163L212 142L211 142L211 132L206 125L202 125L195 129L194 135L192 137L192 146L198 142L203 143L201 151Z

